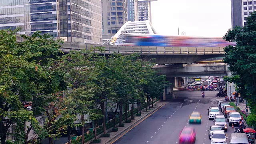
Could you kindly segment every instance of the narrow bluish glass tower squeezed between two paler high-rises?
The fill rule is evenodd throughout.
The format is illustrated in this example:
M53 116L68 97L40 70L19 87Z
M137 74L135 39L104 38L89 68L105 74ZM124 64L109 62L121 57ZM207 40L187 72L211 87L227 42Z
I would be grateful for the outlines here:
M138 0L128 0L128 21L138 21Z

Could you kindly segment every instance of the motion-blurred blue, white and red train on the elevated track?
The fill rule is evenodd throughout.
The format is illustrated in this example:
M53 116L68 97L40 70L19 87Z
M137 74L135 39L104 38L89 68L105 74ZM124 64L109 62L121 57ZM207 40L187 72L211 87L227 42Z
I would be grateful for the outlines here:
M162 36L158 34L126 34L126 46L226 47L236 45L218 37Z

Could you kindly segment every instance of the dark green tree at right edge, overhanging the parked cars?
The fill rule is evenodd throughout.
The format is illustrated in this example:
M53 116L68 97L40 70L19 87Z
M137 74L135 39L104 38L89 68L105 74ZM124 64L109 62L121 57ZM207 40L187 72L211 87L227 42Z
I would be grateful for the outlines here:
M235 46L224 48L224 61L229 65L231 77L226 80L234 82L243 98L256 102L256 12L247 18L243 27L236 26L223 37L226 41L236 42ZM252 114L255 113L255 107ZM254 124L255 125L255 124Z

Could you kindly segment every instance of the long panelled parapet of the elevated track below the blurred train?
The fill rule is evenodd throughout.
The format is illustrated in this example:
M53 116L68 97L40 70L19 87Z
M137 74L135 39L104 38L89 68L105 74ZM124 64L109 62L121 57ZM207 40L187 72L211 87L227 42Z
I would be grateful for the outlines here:
M118 45L101 45L101 44L82 44L74 42L65 42L60 49L62 52L70 52L70 50L90 50L96 47L104 47L105 52L98 53L112 54L114 52L120 54L224 54L221 47L168 47L168 46L118 46Z

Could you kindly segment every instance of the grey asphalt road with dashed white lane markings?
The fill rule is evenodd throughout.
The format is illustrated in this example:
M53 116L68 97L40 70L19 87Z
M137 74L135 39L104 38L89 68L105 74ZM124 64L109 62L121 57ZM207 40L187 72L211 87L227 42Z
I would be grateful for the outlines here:
M184 126L195 128L195 144L210 144L208 129L213 125L213 122L208 120L207 109L210 106L217 106L218 100L220 100L220 98L215 97L217 92L207 91L204 98L201 98L202 92L200 91L175 92L175 96L178 96L175 101L162 106L146 120L116 140L114 144L178 144L178 137ZM201 113L201 124L189 124L189 115L193 111ZM234 129L228 126L228 132L226 132L228 144L232 132Z

